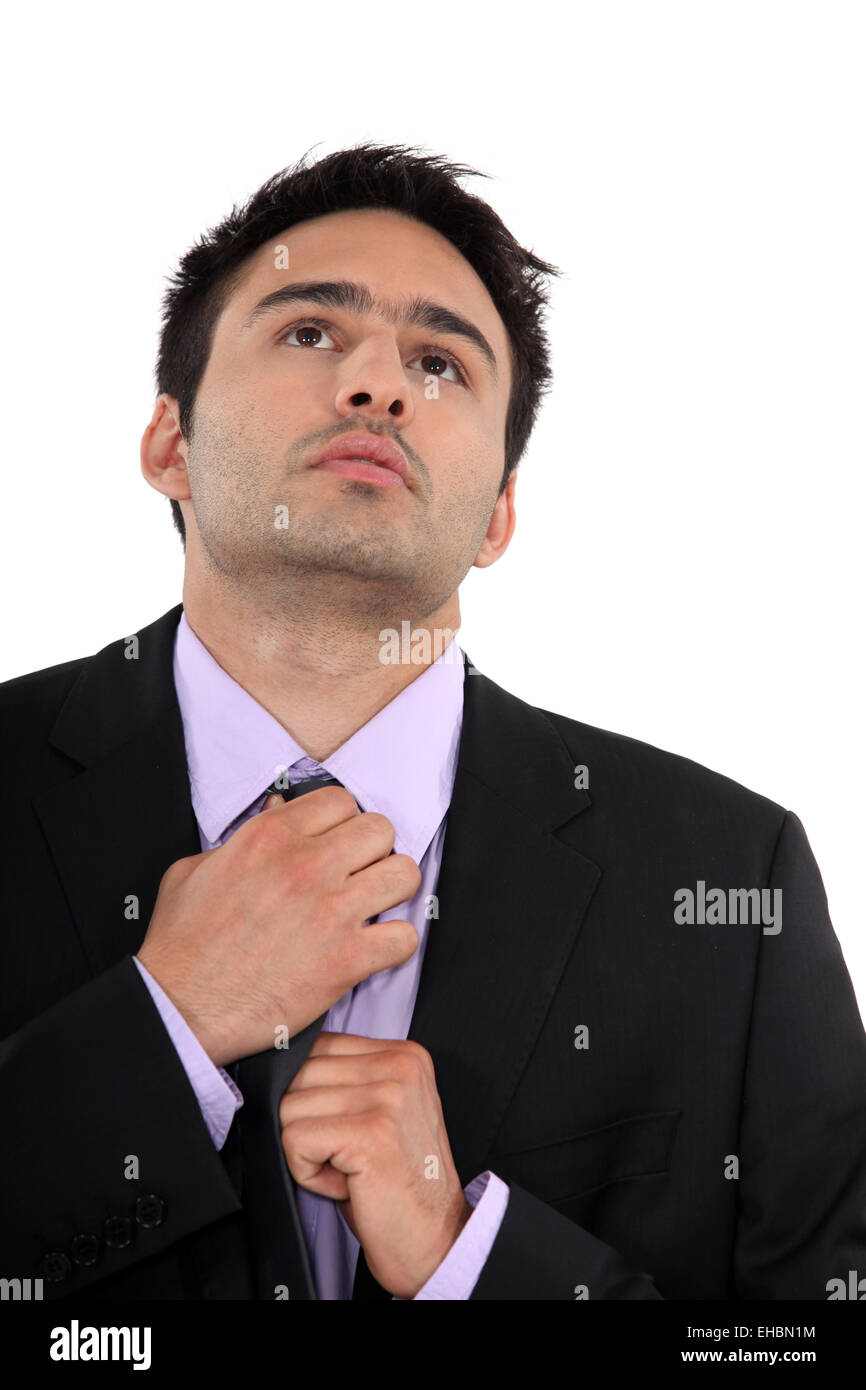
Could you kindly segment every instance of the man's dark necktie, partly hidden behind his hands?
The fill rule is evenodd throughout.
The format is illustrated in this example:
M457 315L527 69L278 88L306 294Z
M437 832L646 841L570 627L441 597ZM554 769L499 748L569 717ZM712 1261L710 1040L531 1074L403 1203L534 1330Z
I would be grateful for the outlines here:
M341 787L336 777L306 777L292 787L272 783L267 795L279 792L295 801L320 787ZM243 1207L249 1220L256 1266L257 1297L272 1302L314 1300L316 1280L304 1240L295 1183L282 1150L279 1102L306 1062L327 1015L307 1024L288 1048L270 1047L229 1068L243 1093L238 1111L243 1162Z

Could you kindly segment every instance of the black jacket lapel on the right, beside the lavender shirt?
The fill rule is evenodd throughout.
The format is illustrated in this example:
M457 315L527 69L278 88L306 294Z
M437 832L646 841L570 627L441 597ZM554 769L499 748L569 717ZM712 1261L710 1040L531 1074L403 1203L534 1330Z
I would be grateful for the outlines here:
M555 835L588 806L542 712L468 663L439 917L409 1029L434 1059L464 1184L485 1165L601 878Z

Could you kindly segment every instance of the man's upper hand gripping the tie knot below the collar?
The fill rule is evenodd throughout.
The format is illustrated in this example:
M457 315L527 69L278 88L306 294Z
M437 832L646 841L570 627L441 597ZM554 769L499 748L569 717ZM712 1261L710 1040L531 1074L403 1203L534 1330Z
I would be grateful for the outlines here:
M385 816L345 787L271 795L224 845L170 865L138 959L217 1066L300 1033L353 986L402 965L418 934L378 922L421 872Z

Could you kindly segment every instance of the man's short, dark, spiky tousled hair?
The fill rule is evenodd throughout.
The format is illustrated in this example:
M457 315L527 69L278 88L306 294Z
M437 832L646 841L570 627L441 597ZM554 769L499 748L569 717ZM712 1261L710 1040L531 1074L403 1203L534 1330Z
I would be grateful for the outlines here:
M512 395L502 491L523 456L552 381L542 277L559 275L559 270L520 246L496 213L456 182L466 174L488 178L480 170L402 145L366 142L313 165L304 160L306 154L274 174L182 257L163 296L157 395L165 392L177 399L181 432L189 439L214 325L253 252L278 232L314 217L360 207L393 208L427 222L456 246L487 286L507 331ZM183 516L174 499L171 510L186 549Z

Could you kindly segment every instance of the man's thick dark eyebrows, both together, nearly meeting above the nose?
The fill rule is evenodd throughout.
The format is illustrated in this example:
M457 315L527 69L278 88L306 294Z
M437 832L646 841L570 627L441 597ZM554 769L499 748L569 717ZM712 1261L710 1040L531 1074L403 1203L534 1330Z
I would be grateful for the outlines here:
M445 304L436 304L421 296L409 300L381 300L371 295L366 285L359 285L352 279L309 279L282 285L259 300L245 318L240 332L249 332L261 318L302 300L324 304L328 309L346 309L354 314L375 313L389 324L414 324L417 328L428 328L431 332L464 338L478 349L489 367L491 377L498 381L496 354L481 329L468 318L446 309Z

